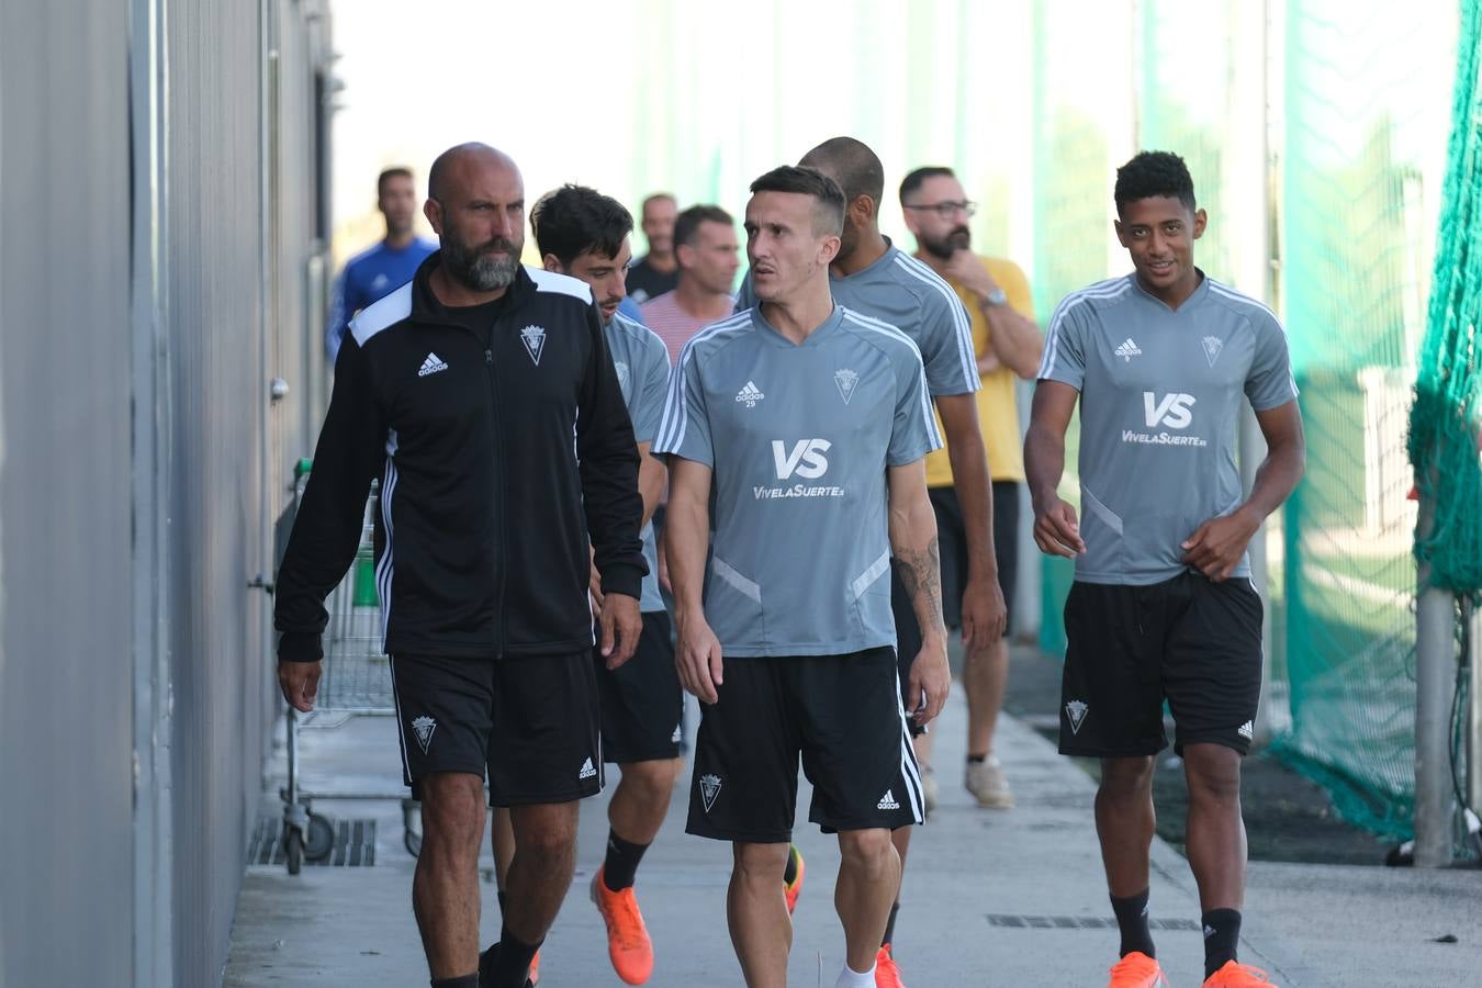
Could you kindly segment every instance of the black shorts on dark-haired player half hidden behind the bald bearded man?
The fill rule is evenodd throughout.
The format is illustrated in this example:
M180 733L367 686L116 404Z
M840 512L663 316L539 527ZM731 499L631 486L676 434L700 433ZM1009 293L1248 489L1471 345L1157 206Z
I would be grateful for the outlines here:
M608 668L600 647L591 650L591 659L602 699L602 757L619 764L677 758L685 695L668 613L643 612L637 650L618 668Z

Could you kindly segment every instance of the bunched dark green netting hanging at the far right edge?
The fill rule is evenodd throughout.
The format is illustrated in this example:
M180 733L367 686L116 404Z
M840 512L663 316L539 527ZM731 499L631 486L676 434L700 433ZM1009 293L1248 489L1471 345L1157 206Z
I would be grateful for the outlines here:
M1433 527L1415 535L1415 558L1430 563L1433 587L1476 595L1482 590L1482 461L1478 458L1482 4L1478 0L1463 4L1460 37L1436 274L1409 419L1409 458L1421 496L1435 505Z

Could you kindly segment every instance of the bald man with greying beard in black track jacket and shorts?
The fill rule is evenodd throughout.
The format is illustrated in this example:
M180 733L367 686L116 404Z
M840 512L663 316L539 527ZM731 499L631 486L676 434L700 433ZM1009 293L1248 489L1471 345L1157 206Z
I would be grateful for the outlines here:
M637 446L602 314L520 265L525 185L482 144L443 153L424 213L440 250L345 333L279 572L279 683L313 710L323 600L354 560L370 481L376 588L406 784L422 800L412 905L434 988L525 988L602 788L587 590L600 653L639 641L648 566ZM517 850L499 942L479 952L489 801Z

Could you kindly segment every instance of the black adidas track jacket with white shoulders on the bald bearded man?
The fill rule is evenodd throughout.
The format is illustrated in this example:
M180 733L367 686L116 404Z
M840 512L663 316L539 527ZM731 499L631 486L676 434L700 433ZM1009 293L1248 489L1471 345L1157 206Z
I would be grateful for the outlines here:
M603 588L639 595L637 447L590 289L520 267L486 347L445 321L427 284L437 264L345 333L277 575L280 662L323 655L325 597L354 560L376 475L393 655L590 647L588 538Z

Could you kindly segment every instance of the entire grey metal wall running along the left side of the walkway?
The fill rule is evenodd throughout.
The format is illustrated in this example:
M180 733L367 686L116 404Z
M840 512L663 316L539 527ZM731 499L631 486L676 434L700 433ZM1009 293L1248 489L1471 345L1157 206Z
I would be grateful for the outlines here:
M221 976L282 704L247 581L317 419L325 6L0 4L0 987Z

